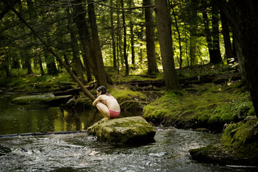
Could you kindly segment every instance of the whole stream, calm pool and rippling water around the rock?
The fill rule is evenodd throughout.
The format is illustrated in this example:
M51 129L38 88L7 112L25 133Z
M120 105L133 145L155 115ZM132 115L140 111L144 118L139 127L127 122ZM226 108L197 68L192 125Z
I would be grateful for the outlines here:
M94 113L62 112L58 108L24 110L8 101L1 101L0 129L2 135L20 130L80 130L101 118L98 116L94 119L91 117L93 115ZM33 126L35 121L39 122ZM30 128L25 129L27 126ZM19 130L15 129L17 127ZM105 144L97 141L96 137L87 135L87 132L1 137L0 171L251 171L252 169L202 164L191 160L189 149L215 144L220 137L221 135L207 132L176 128L156 128L155 142L144 146Z

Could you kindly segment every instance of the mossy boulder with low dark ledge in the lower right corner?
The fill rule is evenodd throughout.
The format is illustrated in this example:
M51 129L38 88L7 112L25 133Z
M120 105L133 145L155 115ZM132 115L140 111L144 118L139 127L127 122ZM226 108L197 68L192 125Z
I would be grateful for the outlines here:
M222 165L258 164L258 121L247 117L227 126L221 143L189 150L193 160Z

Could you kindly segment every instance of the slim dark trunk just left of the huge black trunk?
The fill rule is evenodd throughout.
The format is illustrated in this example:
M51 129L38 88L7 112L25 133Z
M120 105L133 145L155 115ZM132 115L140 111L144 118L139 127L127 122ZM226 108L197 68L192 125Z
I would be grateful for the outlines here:
M227 18L225 17L224 13L221 12L221 26L222 26L222 33L223 33L223 40L225 46L225 58L227 59L227 64L230 62L230 59L234 58L233 51L232 51L232 44L230 40L230 29L228 28Z

